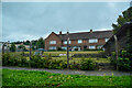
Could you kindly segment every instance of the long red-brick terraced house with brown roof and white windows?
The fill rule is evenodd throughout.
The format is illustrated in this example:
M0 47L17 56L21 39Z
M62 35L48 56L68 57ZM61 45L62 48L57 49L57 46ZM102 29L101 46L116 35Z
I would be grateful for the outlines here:
M79 32L79 33L67 33L56 34L52 32L45 38L45 50L66 50L67 48L67 37L69 37L69 50L97 50L101 48L106 42L112 36L112 31L92 31L90 32Z

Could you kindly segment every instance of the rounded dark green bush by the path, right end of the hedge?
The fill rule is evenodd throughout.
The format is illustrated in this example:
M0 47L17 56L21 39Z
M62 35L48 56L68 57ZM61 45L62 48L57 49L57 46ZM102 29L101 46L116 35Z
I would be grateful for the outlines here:
M82 70L94 70L96 67L96 64L92 59L82 59L80 64L80 69Z

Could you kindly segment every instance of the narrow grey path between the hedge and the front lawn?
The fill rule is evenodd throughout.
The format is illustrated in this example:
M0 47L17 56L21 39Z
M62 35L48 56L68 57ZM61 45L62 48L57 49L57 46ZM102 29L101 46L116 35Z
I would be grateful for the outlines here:
M3 66L2 68L8 68L8 69L15 69L15 70L37 70L37 72L50 72L50 73L55 73L55 74L70 74L70 75L87 75L87 76L103 76L105 74L107 76L111 76L112 74L114 76L122 76L122 75L131 75L132 73L127 73L127 72L117 72L117 70L75 70L75 69L46 69L46 68L25 68L25 67L6 67Z

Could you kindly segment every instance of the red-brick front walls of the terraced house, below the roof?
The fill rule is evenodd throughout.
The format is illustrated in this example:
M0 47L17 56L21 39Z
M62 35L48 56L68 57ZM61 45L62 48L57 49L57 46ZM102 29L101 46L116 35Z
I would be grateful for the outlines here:
M50 41L56 41L56 44L50 44ZM96 46L97 45L105 45L105 38L98 38L98 43L89 43L88 40L82 40L82 43L78 44L78 40L70 40L70 44L69 46L80 46L81 50L84 50L84 46L87 46L87 48L89 46ZM67 44L64 44L64 41L61 40L61 37L55 34L54 32L52 32L47 38L45 38L45 50L47 51L51 46L56 46L57 47L62 47L62 46L67 46Z

